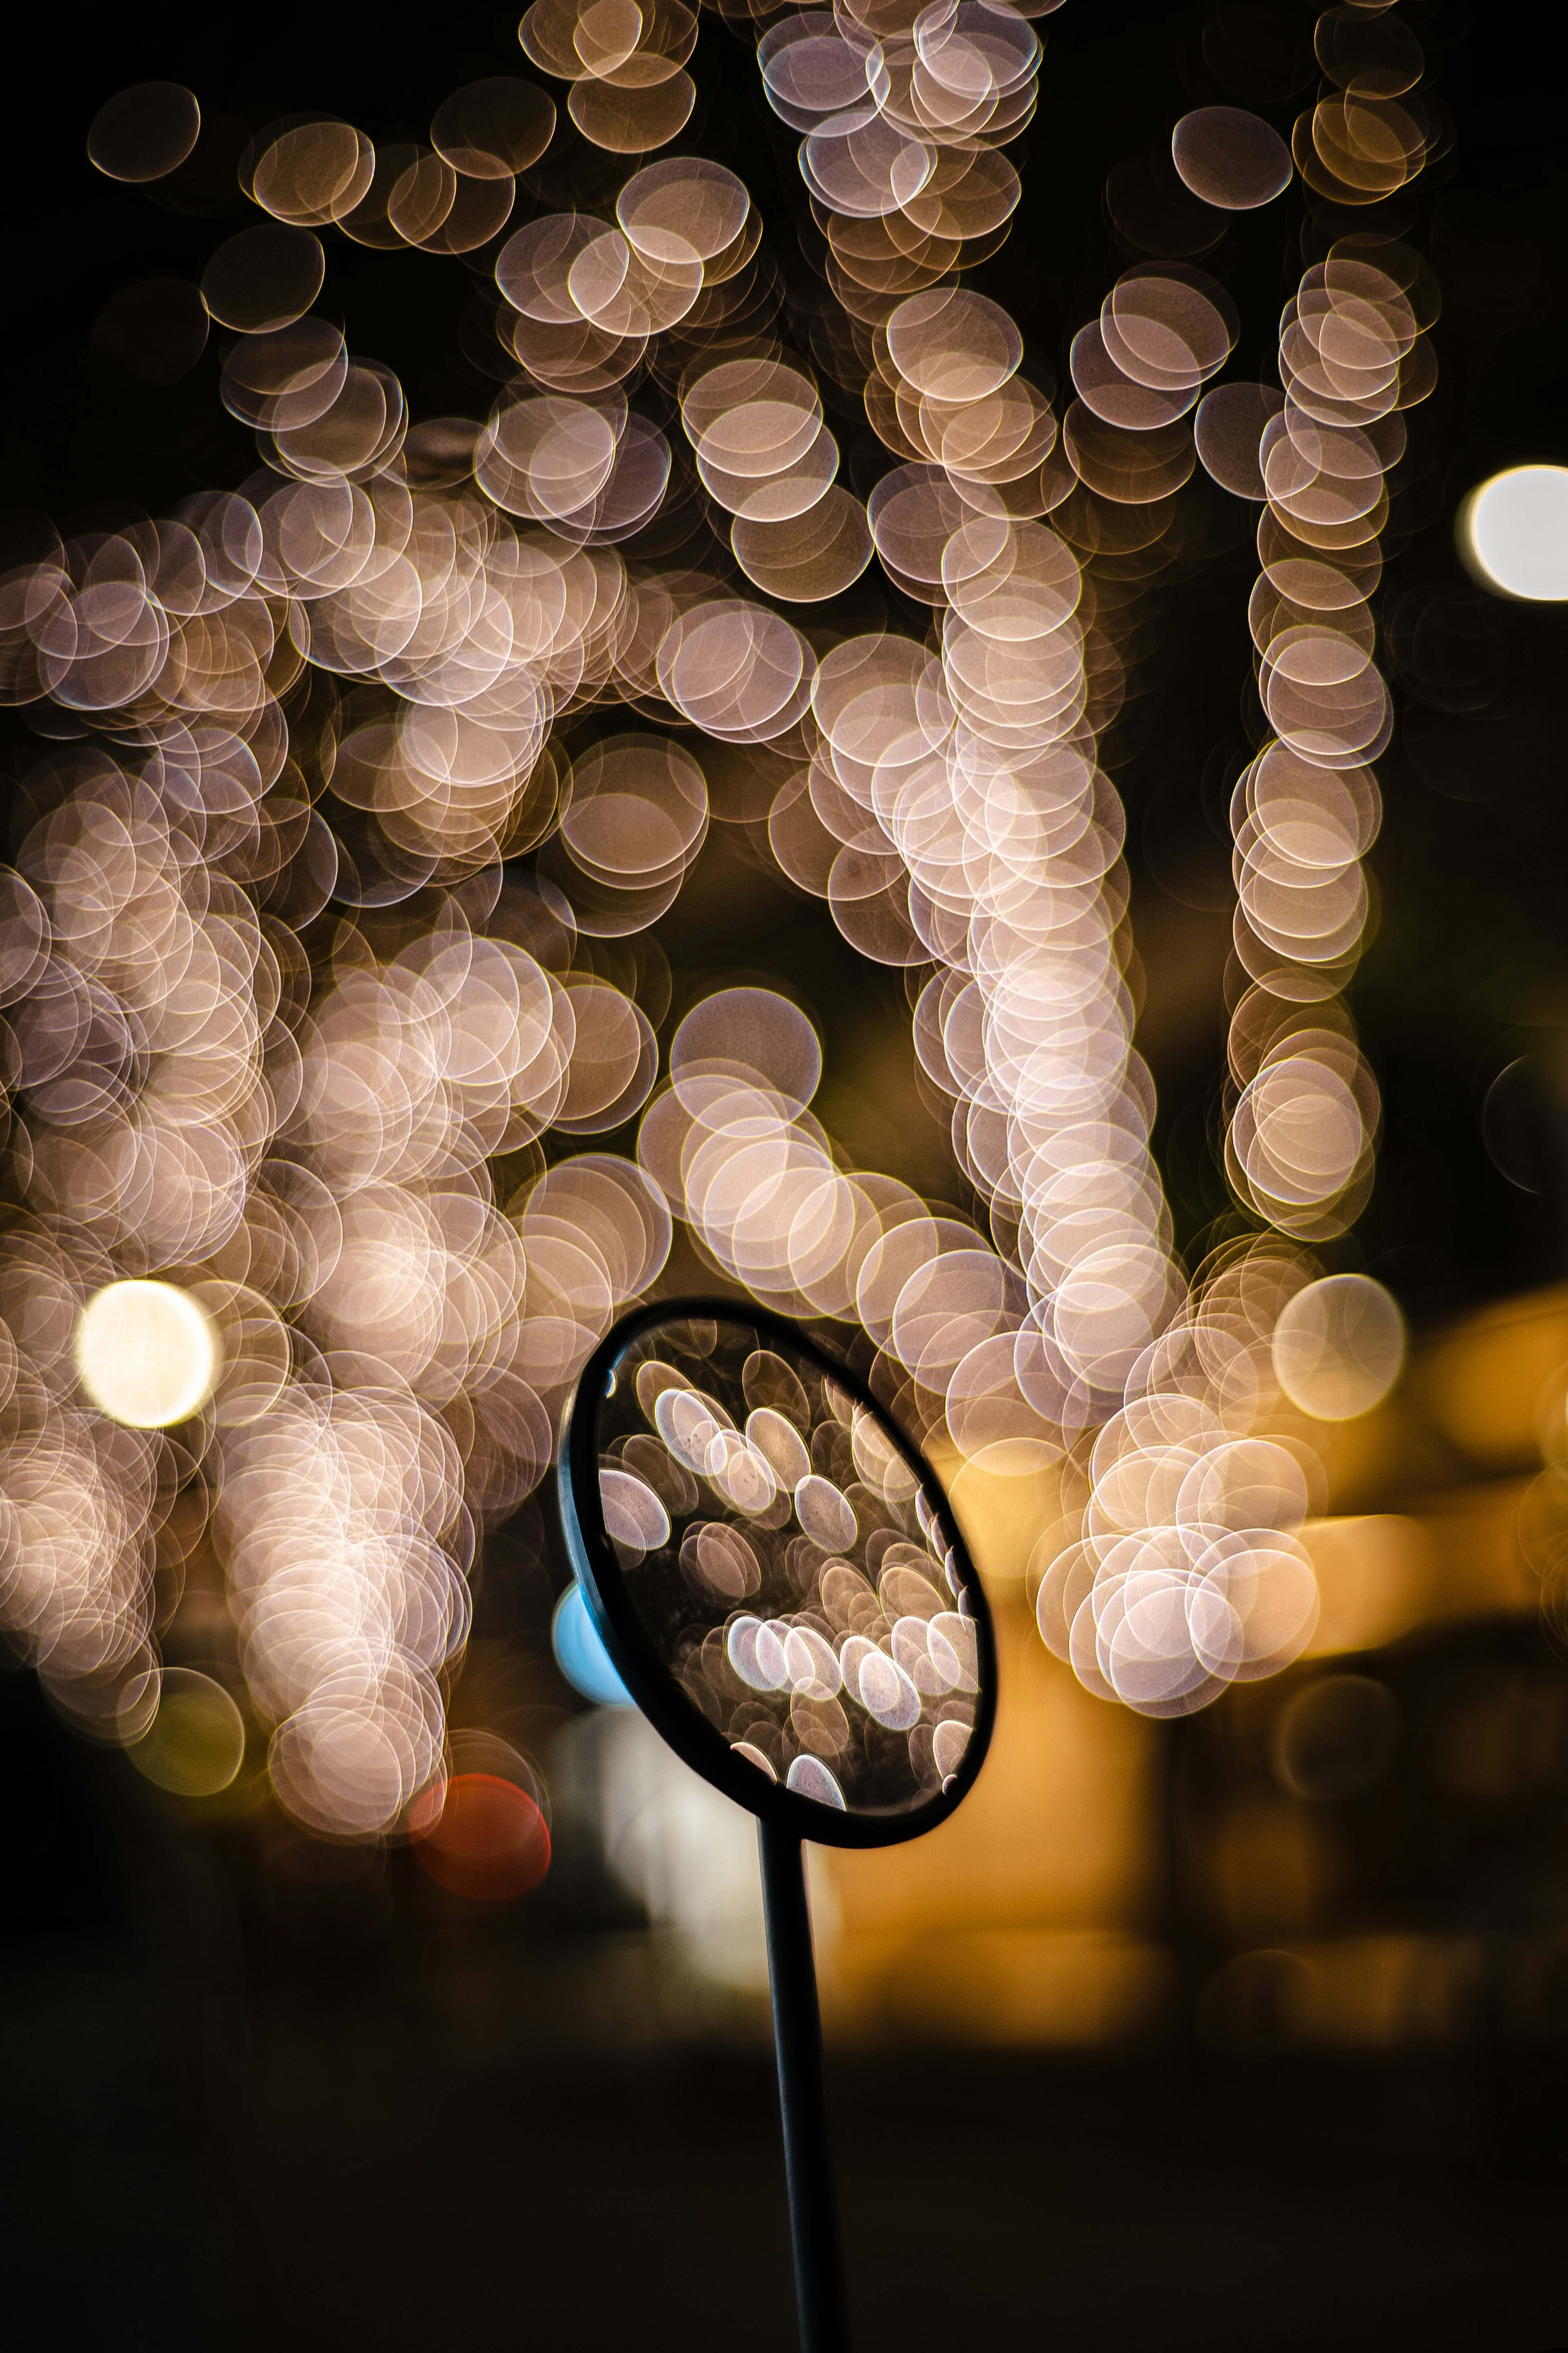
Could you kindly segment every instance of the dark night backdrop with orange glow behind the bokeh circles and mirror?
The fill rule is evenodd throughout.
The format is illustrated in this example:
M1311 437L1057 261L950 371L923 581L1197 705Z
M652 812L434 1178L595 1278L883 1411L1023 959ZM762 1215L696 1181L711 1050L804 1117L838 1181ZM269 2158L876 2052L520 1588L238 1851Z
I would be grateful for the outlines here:
M1039 369L1065 379L1128 261L1107 172L1234 94L1225 42L1288 54L1314 14L1067 0L1039 26L1039 113L1011 151L1023 202L976 275ZM1450 0L1406 14L1453 115L1399 226L1441 282L1439 386L1392 482L1378 593L1396 722L1352 998L1382 1096L1378 1179L1324 1264L1392 1292L1408 1358L1373 1412L1314 1424L1316 1633L1175 1720L1091 1697L1041 1645L1060 1471L1001 1475L933 1442L997 1612L992 1758L929 1840L811 1857L865 2346L1563 2334L1568 520L1556 572L1519 558L1563 475L1535 506L1507 485L1568 464L1568 42ZM247 21L165 9L89 47L47 14L26 31L5 155L7 501L118 529L110 501L160 513L237 485L254 442L219 407L216 351L158 388L115 365L120 292L200 275L216 231L195 202L155 207L85 167L96 108L169 75L249 127L320 108L414 139L447 89L515 71L515 26L282 0ZM748 47L703 21L691 146L745 174L785 245L792 139L764 136ZM1312 64L1286 82L1288 132ZM1312 259L1300 212L1293 191L1262 233L1237 216L1241 376L1267 376ZM334 271L355 348L397 369L414 416L484 407L461 264L343 247ZM863 496L886 454L839 440ZM1201 473L1182 496L1190 560L1119 645L1100 758L1128 812L1154 1158L1192 1257L1241 1224L1215 1139L1246 986L1227 809L1253 751L1255 562L1253 511ZM919 635L912 612L893 602ZM5 725L26 776L38 734ZM900 972L858 958L743 826L708 831L635 955L599 948L599 979L639 998L665 1052L710 991L790 995L823 1040L813 1113L839 1162L983 1224ZM708 1287L710 1266L677 1228L663 1285ZM78 1337L85 1391L129 1426L176 1419L181 1379L212 1384L207 1325L146 1299L118 1313ZM153 1318L129 1377L127 1315ZM266 1346L228 1329L259 1381ZM473 1812L449 1800L430 1824L416 1805L390 1842L317 1838L303 1800L280 1807L223 1560L202 1527L174 1525L167 1551L183 1586L153 1732L125 1751L78 1739L24 1666L0 1680L0 2245L33 2315L14 2339L790 2344L752 1826L562 1675L548 1480L491 1515L447 1697Z

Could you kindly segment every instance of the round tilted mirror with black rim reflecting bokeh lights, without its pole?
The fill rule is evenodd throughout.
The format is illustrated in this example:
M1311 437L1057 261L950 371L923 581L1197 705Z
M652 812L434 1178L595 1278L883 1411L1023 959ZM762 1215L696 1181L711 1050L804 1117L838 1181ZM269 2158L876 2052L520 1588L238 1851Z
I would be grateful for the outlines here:
M931 1468L802 1332L733 1301L625 1318L559 1487L588 1614L703 1779L830 1847L964 1798L997 1708L980 1581Z

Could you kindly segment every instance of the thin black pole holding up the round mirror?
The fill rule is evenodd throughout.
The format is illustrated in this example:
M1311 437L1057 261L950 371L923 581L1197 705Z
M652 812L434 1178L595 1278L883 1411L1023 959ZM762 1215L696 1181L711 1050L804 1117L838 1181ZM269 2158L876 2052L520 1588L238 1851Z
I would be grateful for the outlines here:
M790 1831L759 1821L757 1845L762 1849L762 1906L769 1925L773 2047L778 2052L778 2108L790 2181L799 2344L802 2353L849 2353L844 2247L839 2242L839 2200L832 2188L832 2144L823 2092L823 2019L816 2007L806 1871L799 1838Z

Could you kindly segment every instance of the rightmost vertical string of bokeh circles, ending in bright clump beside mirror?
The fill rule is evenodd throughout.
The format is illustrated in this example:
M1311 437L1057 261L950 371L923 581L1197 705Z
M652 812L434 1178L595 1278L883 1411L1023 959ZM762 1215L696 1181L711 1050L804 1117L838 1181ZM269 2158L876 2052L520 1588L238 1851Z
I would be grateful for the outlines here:
M1039 1588L1046 1642L1091 1689L1150 1715L1190 1713L1307 1645L1316 1584L1298 1529L1314 1497L1321 1508L1321 1475L1300 1431L1269 1435L1269 1421L1281 1407L1286 1419L1291 1407L1328 1421L1366 1412L1401 1362L1382 1287L1314 1280L1286 1238L1342 1235L1373 1181L1378 1085L1340 995L1368 929L1361 859L1382 814L1368 762L1392 734L1368 598L1403 412L1436 381L1429 268L1387 228L1349 224L1352 207L1422 169L1443 125L1413 96L1422 52L1392 12L1326 9L1314 49L1342 96L1298 118L1291 153L1342 226L1284 308L1281 391L1218 386L1194 421L1213 480L1260 508L1248 624L1267 734L1232 795L1246 986L1229 1028L1225 1174L1272 1235L1220 1247L1197 1271L1095 1440L1077 1541ZM1237 108L1187 115L1171 153L1187 191L1218 207L1267 202L1291 176L1279 134ZM1222 306L1204 292L1208 311L1166 320L1197 320L1175 358L1161 351L1171 402L1197 398L1201 358L1220 346ZM1110 327L1088 346L1093 388L1081 346L1081 395L1105 407L1110 376L1135 421L1107 369L1119 358ZM1152 407L1147 419L1164 428Z

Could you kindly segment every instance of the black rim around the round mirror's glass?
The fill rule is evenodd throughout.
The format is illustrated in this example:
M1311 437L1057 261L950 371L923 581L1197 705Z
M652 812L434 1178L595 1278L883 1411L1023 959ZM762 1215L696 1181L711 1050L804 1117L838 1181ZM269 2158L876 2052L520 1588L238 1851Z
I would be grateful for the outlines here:
M853 1814L839 1812L832 1805L818 1805L816 1798L802 1798L797 1791L785 1788L783 1781L769 1781L755 1765L733 1755L724 1734L677 1689L670 1668L654 1649L625 1593L623 1572L604 1532L604 1511L599 1506L599 1393L604 1377L642 1332L651 1325L679 1322L682 1318L693 1322L743 1322L759 1339L780 1341L783 1348L809 1358L825 1379L846 1391L856 1405L867 1407L893 1433L905 1461L919 1475L926 1497L936 1506L936 1520L952 1546L952 1558L959 1565L969 1595L969 1614L976 1624L980 1689L976 1699L976 1727L969 1737L964 1762L952 1777L952 1788L936 1791L926 1805L917 1805L907 1814ZM816 1847L898 1847L907 1838L924 1838L926 1831L947 1821L964 1802L985 1762L997 1722L997 1635L985 1591L931 1464L905 1438L886 1407L877 1405L865 1381L827 1355L799 1325L745 1299L663 1299L656 1306L623 1315L588 1358L571 1391L557 1461L557 1497L567 1558L583 1586L588 1614L616 1673L654 1729L703 1781L733 1798L736 1805L745 1807L759 1821L776 1824L792 1838L804 1838Z

